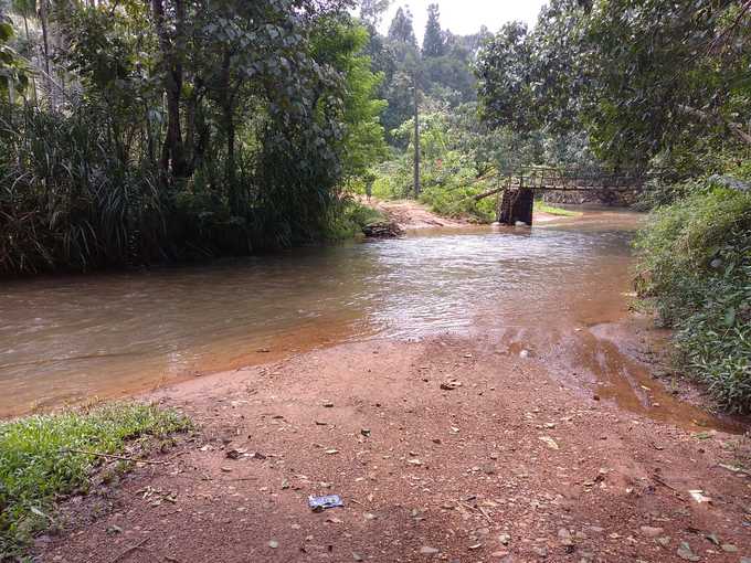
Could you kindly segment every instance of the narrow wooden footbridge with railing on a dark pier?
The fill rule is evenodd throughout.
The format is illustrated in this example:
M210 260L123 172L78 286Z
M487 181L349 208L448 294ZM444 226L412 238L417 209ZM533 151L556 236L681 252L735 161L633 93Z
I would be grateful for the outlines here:
M635 195L645 189L649 174L605 172L596 169L560 169L530 167L496 176L498 185L475 195L479 201L490 195L498 198L498 222L516 225L532 224L535 194L538 192L594 192L601 200L614 194Z

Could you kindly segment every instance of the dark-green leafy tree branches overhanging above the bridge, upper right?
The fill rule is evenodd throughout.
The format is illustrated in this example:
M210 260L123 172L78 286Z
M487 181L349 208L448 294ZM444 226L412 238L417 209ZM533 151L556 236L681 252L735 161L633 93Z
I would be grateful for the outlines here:
M508 24L484 49L484 115L517 130L585 130L614 167L660 158L700 172L702 155L751 146L750 17L731 1L556 0L531 33Z

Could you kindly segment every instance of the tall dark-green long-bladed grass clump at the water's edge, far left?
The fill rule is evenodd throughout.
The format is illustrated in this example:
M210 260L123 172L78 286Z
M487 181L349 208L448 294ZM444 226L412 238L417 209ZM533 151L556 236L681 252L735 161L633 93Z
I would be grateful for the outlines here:
M101 108L0 111L0 274L88 270L159 253L162 200L117 158Z

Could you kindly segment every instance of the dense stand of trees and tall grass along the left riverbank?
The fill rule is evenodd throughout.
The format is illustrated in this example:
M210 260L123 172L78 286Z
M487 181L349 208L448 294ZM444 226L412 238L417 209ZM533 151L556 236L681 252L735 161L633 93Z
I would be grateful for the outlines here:
M0 100L0 274L324 237L341 187L385 153L381 75L347 6L59 7L52 78L75 87Z

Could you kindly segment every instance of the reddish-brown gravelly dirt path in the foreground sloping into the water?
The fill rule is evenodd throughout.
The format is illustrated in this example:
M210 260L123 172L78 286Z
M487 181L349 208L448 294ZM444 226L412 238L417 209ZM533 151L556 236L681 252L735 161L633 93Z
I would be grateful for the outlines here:
M201 429L70 502L40 559L748 563L738 436L593 395L594 333L346 343L161 391Z

